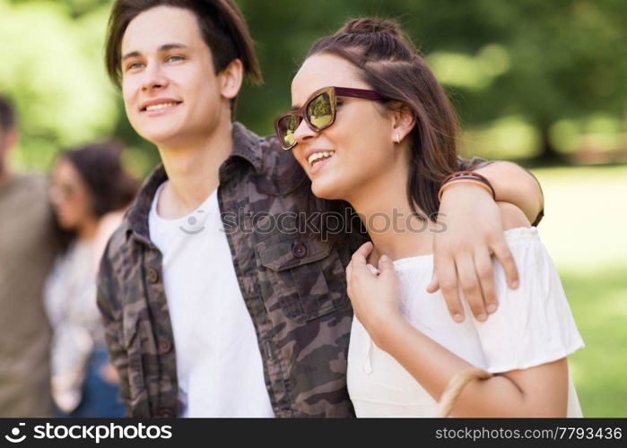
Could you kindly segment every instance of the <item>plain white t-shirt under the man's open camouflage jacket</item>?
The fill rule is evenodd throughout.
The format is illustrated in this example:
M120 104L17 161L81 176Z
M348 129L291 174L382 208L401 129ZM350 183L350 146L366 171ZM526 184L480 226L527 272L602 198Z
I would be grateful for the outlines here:
M177 356L182 417L274 417L257 334L231 260L217 189L177 220L157 214L150 237L163 254L163 285Z

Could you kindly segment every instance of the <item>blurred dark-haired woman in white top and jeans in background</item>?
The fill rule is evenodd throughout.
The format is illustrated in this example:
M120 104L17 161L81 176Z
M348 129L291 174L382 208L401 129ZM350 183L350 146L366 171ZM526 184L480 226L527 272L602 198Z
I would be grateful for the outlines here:
M66 235L44 297L53 326L52 396L66 417L124 415L96 306L100 255L138 186L121 152L113 142L66 151L52 171L50 201Z

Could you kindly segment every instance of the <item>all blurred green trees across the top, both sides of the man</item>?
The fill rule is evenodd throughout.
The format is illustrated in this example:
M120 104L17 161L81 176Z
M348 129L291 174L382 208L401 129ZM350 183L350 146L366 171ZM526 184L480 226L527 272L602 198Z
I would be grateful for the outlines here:
M310 45L364 15L402 23L451 93L462 122L520 116L555 154L556 122L623 118L627 2L623 0L237 0L266 79L245 86L236 117L259 134L290 106L290 82ZM112 0L0 0L0 91L21 116L15 159L47 168L60 148L115 135L138 173L158 161L128 124L102 62Z

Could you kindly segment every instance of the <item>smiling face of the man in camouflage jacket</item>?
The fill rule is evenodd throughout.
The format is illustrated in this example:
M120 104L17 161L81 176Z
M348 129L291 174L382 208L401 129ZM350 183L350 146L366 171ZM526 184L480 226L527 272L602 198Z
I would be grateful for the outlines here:
M158 146L211 134L228 102L194 13L170 6L140 13L121 55L126 115L138 134Z

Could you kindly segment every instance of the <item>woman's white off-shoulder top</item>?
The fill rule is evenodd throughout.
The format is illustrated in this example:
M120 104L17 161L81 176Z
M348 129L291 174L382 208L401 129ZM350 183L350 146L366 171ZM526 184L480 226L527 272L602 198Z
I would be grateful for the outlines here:
M501 264L494 262L499 308L483 323L472 317L465 297L466 319L455 323L441 292L426 292L432 255L394 262L400 280L399 308L407 322L459 358L491 373L539 366L583 347L562 282L536 228L513 228L505 232L505 239L516 261L520 286L509 289ZM395 358L370 340L356 318L347 383L357 417L437 415L438 403ZM570 373L567 417L581 417Z

